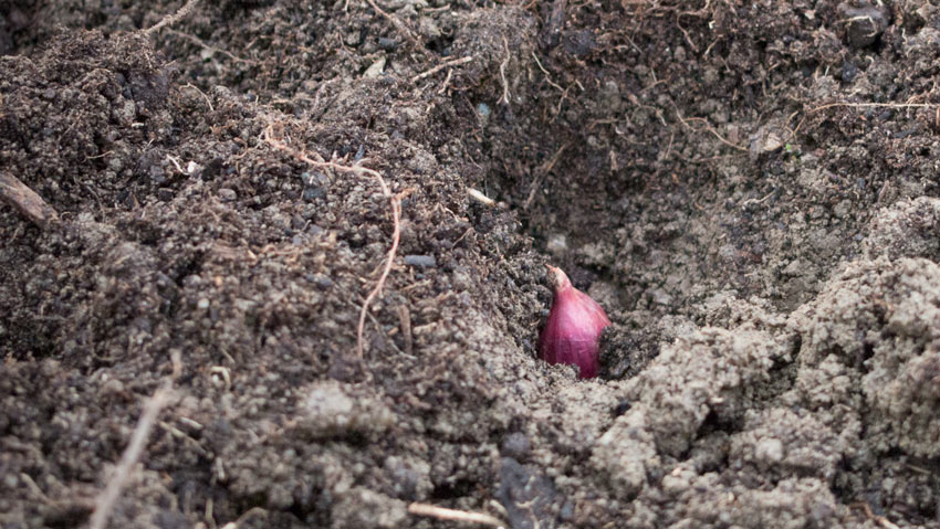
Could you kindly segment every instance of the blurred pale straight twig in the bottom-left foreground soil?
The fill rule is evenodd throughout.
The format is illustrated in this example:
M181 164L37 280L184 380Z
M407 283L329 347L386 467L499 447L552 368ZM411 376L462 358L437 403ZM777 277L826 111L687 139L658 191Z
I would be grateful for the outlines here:
M130 443L127 444L124 455L121 456L121 463L114 469L114 475L107 483L107 487L98 495L95 501L95 511L92 514L88 529L104 529L107 519L111 517L111 511L114 510L115 502L121 497L121 490L124 488L127 478L130 477L132 467L140 458L140 453L144 451L144 445L147 443L147 437L150 435L150 430L154 427L157 415L167 402L169 402L170 394L170 383L167 382L144 404L144 413L140 414L140 420L137 421L137 427L134 429Z

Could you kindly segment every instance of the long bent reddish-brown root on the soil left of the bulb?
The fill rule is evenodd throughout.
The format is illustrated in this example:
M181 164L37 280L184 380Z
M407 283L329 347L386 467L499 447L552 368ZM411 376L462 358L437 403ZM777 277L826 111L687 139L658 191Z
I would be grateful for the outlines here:
M358 165L344 166L332 160L314 160L304 152L293 149L283 141L275 139L273 135L273 125L269 125L268 128L264 129L262 139L271 147L274 147L278 150L283 150L284 152L290 154L294 158L303 161L304 163L311 167L317 169L333 169L334 171L338 172L353 173L359 177L367 176L375 179L375 181L378 182L378 186L382 189L382 194L384 194L388 199L391 205L391 247L388 248L388 256L386 257L385 265L382 267L382 275L378 277L375 288L373 288L369 295L366 296L366 300L363 303L363 308L359 311L359 322L356 328L356 355L358 356L358 358L363 358L363 330L366 325L366 315L368 314L368 307L369 304L372 304L373 299L375 299L376 296L382 293L382 288L385 286L385 282L388 278L388 274L391 272L391 266L395 264L395 254L398 252L398 242L401 239L401 199L408 193L410 193L411 189L407 189L398 194L393 194L391 190L389 190L388 188L388 184L385 183L385 179L382 178L382 173L376 170L368 169Z

